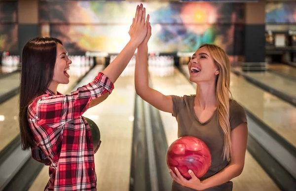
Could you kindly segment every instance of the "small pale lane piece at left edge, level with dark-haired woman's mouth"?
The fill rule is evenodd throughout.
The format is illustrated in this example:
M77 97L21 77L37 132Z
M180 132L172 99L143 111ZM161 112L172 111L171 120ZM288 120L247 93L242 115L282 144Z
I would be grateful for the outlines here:
M0 78L0 97L19 87L20 74L20 72L15 72Z

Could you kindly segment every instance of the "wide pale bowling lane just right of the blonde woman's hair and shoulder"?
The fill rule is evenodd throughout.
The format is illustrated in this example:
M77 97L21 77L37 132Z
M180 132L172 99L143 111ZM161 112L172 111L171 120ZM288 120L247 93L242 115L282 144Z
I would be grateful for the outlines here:
M184 71L188 71L187 66L183 68ZM189 73L186 74L189 75ZM230 73L230 91L237 102L296 147L295 106L232 72Z

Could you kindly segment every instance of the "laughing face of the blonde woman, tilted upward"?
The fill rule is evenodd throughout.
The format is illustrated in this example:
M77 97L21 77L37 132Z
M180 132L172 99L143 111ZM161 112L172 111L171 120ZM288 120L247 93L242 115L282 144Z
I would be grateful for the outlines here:
M219 74L218 66L207 47L199 48L188 63L189 80L194 83L215 82Z

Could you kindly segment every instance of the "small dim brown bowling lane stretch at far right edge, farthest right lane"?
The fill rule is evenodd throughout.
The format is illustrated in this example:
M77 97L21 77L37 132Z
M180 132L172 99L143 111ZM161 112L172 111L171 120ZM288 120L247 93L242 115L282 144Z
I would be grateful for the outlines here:
M291 65L268 64L267 68L276 74L279 74L282 76L288 76L288 77L296 80L296 68Z

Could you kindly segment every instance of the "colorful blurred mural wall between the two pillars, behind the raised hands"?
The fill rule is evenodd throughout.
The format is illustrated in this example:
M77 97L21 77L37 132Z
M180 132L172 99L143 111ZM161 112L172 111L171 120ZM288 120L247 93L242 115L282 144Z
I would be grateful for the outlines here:
M140 2L65 1L39 3L43 36L60 38L67 51L118 53ZM153 52L192 52L202 43L222 46L229 55L242 54L244 3L143 2L150 14Z

